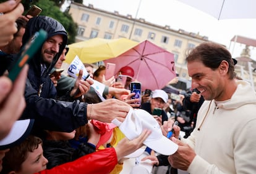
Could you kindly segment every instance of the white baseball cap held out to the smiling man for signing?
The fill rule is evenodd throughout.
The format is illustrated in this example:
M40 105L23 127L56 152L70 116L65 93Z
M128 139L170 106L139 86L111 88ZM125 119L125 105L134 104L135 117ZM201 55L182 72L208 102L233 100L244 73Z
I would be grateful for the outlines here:
M177 151L177 144L163 136L158 122L143 109L130 109L124 122L117 119L113 119L112 122L129 140L137 138L145 129L150 130L151 133L143 144L160 154L169 156Z

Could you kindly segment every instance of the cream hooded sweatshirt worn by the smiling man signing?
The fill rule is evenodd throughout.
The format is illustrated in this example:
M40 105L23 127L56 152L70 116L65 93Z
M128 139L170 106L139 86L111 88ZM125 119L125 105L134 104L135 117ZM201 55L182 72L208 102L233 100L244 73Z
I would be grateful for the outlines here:
M190 174L256 173L256 93L250 84L237 81L229 100L204 101L194 131L182 141L197 154Z

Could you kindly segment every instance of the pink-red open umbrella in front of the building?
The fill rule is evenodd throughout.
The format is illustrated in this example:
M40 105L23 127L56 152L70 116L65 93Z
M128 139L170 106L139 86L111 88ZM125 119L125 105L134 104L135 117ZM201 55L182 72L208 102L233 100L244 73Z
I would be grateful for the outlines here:
M142 90L162 89L171 79L176 77L174 55L161 47L143 41L118 57L104 60L106 63L115 63L115 74L123 66L134 69L134 81L142 84Z

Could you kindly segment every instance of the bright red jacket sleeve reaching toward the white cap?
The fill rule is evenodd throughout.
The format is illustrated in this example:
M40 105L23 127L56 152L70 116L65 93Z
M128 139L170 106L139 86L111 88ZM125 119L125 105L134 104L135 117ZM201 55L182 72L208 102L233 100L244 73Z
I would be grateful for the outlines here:
M34 174L107 174L113 170L116 164L116 151L114 148L106 148Z

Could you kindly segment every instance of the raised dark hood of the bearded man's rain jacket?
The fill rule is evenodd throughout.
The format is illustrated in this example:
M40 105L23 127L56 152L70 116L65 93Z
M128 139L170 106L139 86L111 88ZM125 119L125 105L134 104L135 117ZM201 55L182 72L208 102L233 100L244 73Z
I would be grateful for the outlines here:
M46 16L38 16L30 18L30 20L27 23L25 33L22 38L22 45L25 45L25 43L28 41L28 39L33 36L33 34L36 33L36 31L39 31L40 29L45 30L48 33L48 38L51 38L52 36L56 34L62 34L63 35L63 43L59 49L59 53L56 54L56 56L53 59L53 63L51 65L46 65L47 70L45 71L45 74L49 74L49 71L54 67L56 61L58 60L59 56L61 55L63 49L65 48L67 44L67 32L64 28L64 26L61 25L57 20L46 17ZM41 73L40 69L40 61L41 61L41 48L36 52L35 56L30 60L30 66L33 66L33 68L38 71L37 73Z

